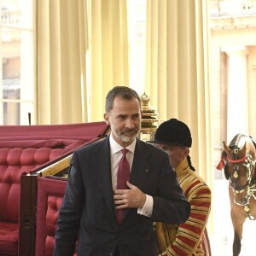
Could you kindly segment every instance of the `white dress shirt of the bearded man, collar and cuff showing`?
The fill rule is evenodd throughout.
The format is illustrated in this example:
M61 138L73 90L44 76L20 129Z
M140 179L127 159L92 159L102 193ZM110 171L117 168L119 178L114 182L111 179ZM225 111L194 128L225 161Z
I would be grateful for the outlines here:
M134 151L136 146L136 141L134 140L128 147L126 147L129 151L126 153L126 159L128 160L131 172L131 166L134 158ZM109 136L110 143L110 155L111 155L111 175L112 175L112 185L113 190L117 189L117 172L119 167L119 161L121 160L123 154L121 150L122 146L119 145L114 139L112 134ZM151 195L146 195L146 201L143 207L137 208L137 213L142 214L147 217L151 217L153 211L153 197Z

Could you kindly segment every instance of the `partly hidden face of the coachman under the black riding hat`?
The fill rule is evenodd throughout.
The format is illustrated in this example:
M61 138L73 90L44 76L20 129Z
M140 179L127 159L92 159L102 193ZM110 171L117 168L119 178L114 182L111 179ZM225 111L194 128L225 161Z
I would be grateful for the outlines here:
M172 166L175 168L179 163L188 156L189 148L177 145L168 145L157 143L158 148L164 149L170 156Z

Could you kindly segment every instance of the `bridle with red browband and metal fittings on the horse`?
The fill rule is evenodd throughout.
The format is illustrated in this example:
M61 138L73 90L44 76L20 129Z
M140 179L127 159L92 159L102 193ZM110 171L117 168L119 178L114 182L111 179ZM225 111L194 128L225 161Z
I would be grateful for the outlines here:
M253 172L253 166L255 166L255 160L253 160L252 154L245 154L243 157L238 158L238 148L234 149L233 155L235 155L234 158L230 158L229 156L227 156L226 165L228 165L228 163L233 163L234 164L233 177L235 179L237 179L239 177L239 175L238 175L239 164L242 163L242 162L245 162L244 165L246 165L246 167L247 167L247 184L245 186L243 186L242 189L234 188L234 186L232 186L234 184L232 183L232 179L230 177L230 188L233 190L234 194L243 193L245 191L245 189L247 189L247 197L246 197L247 201L245 203L241 204L238 201L236 201L236 198L234 197L234 202L236 203L236 205L244 207L244 211L247 212L247 215L250 219L255 219L250 214L250 207L249 207L250 198L253 196L253 199L254 200L256 199L256 196L253 194L256 191L256 183L251 184L252 172Z

